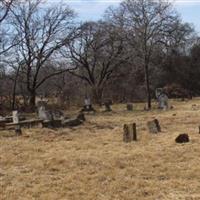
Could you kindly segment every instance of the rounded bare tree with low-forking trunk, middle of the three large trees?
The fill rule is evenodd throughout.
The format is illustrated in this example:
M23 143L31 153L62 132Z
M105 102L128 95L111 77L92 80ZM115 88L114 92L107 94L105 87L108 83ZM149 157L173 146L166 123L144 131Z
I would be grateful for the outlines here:
M84 23L77 35L69 45L72 64L77 70L70 73L89 84L95 103L101 103L107 82L128 59L124 42L115 27L105 22Z

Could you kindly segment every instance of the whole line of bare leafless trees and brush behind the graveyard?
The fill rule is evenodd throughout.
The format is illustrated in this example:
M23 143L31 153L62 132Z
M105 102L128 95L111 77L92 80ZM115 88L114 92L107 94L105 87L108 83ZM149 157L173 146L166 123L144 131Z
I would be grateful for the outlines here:
M37 96L151 108L158 87L200 94L200 40L170 2L125 0L97 22L78 22L62 3L3 0L0 16L1 108L34 109Z

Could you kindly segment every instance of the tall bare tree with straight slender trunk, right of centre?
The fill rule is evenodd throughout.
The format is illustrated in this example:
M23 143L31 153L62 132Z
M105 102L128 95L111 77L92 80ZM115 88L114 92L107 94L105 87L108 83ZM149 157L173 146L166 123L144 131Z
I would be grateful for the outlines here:
M149 68L154 50L166 45L169 38L179 27L178 15L171 3L152 0L125 0L117 10L111 10L112 21L124 23L127 38L137 50L144 68L147 106L151 109L151 91Z

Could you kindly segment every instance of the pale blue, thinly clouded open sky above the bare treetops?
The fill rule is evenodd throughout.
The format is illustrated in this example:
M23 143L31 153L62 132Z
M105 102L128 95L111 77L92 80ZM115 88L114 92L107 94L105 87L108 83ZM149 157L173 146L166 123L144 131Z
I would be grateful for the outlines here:
M56 0L49 0L54 1ZM117 6L121 0L63 0L73 8L81 20L98 20L108 6ZM173 1L173 0L172 0ZM193 23L200 32L200 0L175 0L175 7L185 22Z

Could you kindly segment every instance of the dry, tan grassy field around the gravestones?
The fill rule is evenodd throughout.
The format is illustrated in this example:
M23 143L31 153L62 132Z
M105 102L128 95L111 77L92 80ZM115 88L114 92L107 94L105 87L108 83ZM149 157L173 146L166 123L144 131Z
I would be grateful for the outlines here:
M192 200L200 199L200 99L171 102L173 110L87 115L74 129L0 132L1 200ZM146 122L157 118L162 133ZM123 124L137 123L138 142L122 142ZM176 144L180 133L191 141ZM6 137L7 136L7 137Z

